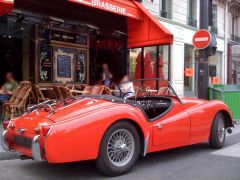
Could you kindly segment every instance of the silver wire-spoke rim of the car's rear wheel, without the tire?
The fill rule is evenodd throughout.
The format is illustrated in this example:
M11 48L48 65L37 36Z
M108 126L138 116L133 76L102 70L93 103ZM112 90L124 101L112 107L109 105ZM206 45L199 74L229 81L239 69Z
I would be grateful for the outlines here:
M109 161L117 167L125 166L131 161L135 150L133 135L126 129L118 129L112 133L107 144Z

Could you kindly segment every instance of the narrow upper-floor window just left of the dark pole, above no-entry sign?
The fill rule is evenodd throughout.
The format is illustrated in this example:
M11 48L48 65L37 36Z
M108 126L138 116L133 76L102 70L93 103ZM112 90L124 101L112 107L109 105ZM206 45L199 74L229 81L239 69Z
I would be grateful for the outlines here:
M188 25L197 27L197 1L196 0L188 0Z

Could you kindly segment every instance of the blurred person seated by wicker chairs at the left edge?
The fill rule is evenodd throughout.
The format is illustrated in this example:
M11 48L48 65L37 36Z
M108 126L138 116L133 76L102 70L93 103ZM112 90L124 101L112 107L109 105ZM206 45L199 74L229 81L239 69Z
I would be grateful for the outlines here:
M13 73L8 72L6 74L6 82L0 89L0 103L8 101L17 86L18 83L14 80Z

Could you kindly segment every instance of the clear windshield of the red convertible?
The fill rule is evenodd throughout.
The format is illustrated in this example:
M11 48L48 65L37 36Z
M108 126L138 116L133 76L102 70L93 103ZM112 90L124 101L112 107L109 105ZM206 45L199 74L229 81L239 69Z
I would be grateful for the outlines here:
M171 84L163 79L138 79L122 82L116 86L113 95L124 99L141 96L175 96L181 101Z

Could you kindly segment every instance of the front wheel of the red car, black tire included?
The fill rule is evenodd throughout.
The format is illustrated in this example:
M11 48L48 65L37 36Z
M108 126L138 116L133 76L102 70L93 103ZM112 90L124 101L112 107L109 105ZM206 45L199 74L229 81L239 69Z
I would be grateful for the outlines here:
M226 122L222 113L215 116L210 133L209 144L214 149L220 149L224 146L226 139Z

